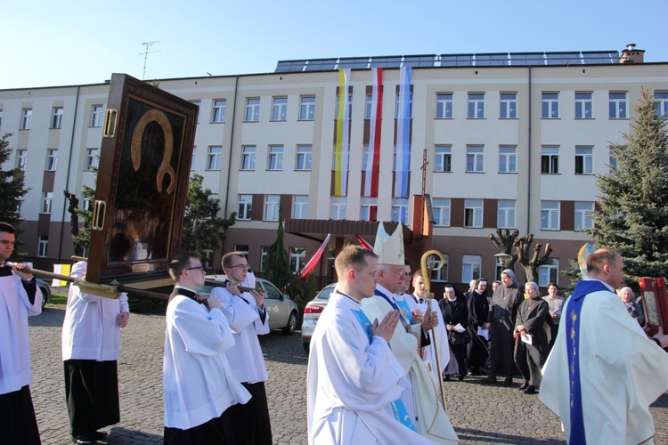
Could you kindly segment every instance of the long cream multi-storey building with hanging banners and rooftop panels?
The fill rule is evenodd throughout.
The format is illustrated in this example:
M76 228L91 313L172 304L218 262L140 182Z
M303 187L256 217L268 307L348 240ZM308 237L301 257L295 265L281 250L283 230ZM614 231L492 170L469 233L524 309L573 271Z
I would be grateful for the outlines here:
M446 280L493 279L500 266L488 235L497 228L550 243L553 260L542 266L541 285L555 279L566 285L558 272L587 241L580 230L591 226L596 174L609 171L610 143L623 142L631 131L640 89L651 90L668 109L668 63L644 63L643 53L629 45L621 55L281 61L273 73L166 79L159 87L200 105L192 173L204 176L225 216L238 212L222 251L247 251L259 273L281 203L295 271L327 233L332 255L355 235L372 244L376 222L401 220L413 270L425 249L443 252L447 264L432 278L436 290ZM376 90L375 67L383 68ZM400 85L403 67L411 67L407 133L397 105L408 91ZM346 84L339 69L352 69ZM337 131L344 109L338 107L340 85L348 88L346 133ZM375 121L374 91L383 94L382 118ZM81 184L94 182L90 166L102 142L108 92L104 83L0 90L0 133L12 133L11 162L25 170L31 187L20 207L26 220L21 241L36 266L72 254L63 190L86 205ZM345 144L337 149L340 134L349 137L349 151ZM365 166L374 137L379 165L371 173ZM398 197L397 145L410 150L407 192ZM345 196L336 196L337 166L346 166L345 160L337 164L337 150L348 155ZM377 193L365 190L370 173L377 174ZM421 205L423 191L429 212ZM213 253L212 261L220 255ZM321 284L331 277L325 261L315 273Z

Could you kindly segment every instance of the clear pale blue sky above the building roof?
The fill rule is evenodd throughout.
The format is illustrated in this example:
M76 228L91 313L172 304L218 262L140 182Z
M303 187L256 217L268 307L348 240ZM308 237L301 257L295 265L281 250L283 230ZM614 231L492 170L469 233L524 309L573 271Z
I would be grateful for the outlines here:
M668 61L666 0L7 0L0 89L273 72L291 59L644 49Z

